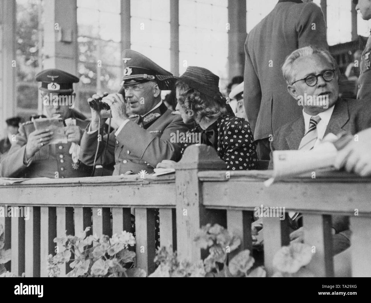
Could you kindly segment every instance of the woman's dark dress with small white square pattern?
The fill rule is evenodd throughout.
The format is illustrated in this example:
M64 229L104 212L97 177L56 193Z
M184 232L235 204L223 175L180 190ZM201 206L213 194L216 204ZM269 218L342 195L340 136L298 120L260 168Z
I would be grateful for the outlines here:
M257 169L254 136L245 119L223 114L207 129L198 125L188 130L186 136L192 138L191 133L201 133L201 144L213 146L219 158L226 162L228 170ZM185 141L181 154L187 146L196 144Z

